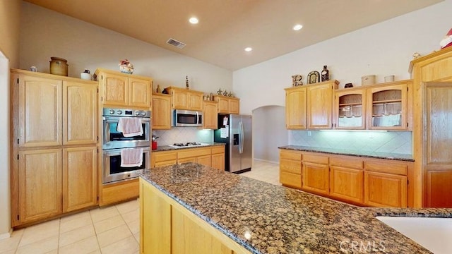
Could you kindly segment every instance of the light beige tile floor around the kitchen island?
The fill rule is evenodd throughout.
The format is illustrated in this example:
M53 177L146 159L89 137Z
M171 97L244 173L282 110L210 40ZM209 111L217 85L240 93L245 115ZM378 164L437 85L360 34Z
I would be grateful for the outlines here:
M241 175L280 185L278 164L255 160ZM0 240L0 254L138 253L138 206L131 200L18 229Z

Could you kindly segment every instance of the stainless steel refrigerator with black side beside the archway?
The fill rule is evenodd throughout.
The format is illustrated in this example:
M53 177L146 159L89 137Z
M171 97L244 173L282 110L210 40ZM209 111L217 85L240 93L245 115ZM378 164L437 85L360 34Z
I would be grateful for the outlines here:
M251 170L251 116L219 114L214 141L226 144L225 170L237 174Z

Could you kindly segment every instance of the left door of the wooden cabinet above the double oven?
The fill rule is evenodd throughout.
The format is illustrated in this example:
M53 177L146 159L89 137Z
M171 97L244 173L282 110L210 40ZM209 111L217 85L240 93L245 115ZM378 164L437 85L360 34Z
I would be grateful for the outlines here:
M126 106L129 104L129 80L121 75L101 73L102 104Z

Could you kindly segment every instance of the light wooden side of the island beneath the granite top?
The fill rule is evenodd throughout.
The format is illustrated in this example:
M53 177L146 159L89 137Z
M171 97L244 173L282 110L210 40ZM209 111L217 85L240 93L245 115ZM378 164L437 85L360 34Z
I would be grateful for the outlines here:
M140 179L140 253L249 253Z

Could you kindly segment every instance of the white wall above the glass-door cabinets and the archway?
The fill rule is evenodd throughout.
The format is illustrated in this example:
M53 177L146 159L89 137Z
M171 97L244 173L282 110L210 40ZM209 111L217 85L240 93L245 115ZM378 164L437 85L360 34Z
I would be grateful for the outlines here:
M439 49L439 41L451 29L452 0L423 8L362 28L346 35L299 49L290 54L242 68L233 73L234 92L240 97L241 114L266 105L285 105L285 87L292 86L291 76L306 76L328 66L331 79L361 84L362 75L385 75L396 80L410 78L408 66L412 54L429 54ZM340 16L338 16L340 18ZM253 52L258 54L258 52Z

